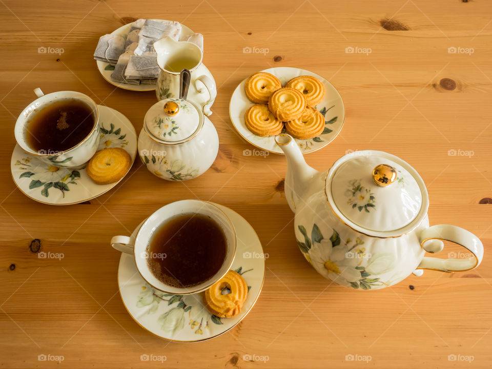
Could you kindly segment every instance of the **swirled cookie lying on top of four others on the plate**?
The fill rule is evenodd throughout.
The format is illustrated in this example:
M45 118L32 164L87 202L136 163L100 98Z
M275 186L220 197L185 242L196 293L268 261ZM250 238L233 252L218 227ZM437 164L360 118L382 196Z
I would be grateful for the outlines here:
M281 88L268 100L268 108L281 121L297 119L306 109L306 99L299 90Z

